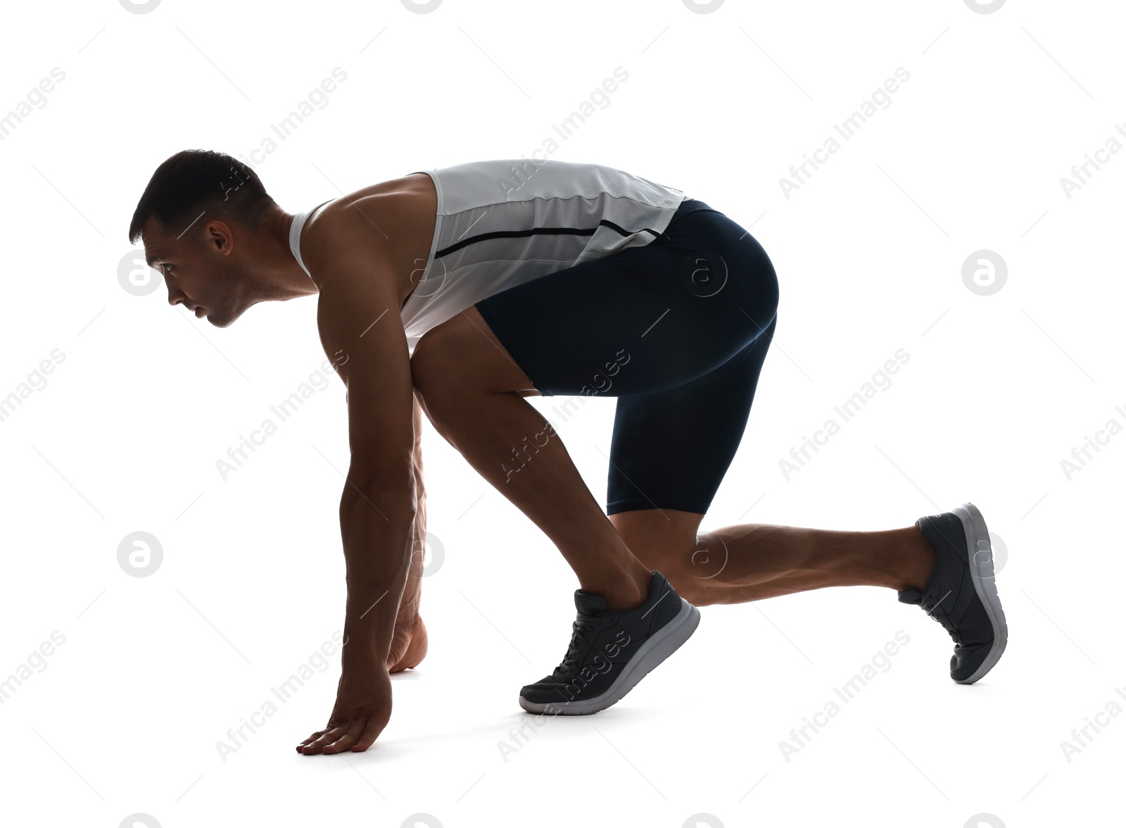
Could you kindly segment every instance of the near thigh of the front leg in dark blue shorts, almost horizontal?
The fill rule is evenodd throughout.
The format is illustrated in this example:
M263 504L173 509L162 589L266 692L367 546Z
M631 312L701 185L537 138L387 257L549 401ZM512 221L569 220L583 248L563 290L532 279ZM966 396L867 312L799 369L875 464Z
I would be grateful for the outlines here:
M649 244L540 276L475 308L540 394L625 397L724 365L759 337L777 304L761 246L707 208L673 216Z

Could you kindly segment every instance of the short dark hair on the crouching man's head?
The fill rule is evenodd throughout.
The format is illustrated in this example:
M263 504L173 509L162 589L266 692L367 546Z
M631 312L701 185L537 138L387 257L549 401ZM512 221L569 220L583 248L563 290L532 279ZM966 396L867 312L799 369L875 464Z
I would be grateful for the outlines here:
M247 164L214 150L182 150L164 161L149 179L129 222L129 243L136 244L150 217L168 229L186 229L202 212L224 220L261 226L276 202Z

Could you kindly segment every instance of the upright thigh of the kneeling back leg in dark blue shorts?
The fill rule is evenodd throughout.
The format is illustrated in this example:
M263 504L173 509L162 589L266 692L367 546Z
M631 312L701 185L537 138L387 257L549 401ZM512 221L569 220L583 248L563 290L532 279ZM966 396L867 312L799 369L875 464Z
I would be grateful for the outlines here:
M606 514L707 513L742 440L777 317L718 368L682 385L619 397Z

